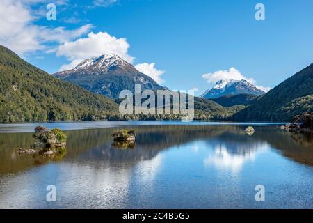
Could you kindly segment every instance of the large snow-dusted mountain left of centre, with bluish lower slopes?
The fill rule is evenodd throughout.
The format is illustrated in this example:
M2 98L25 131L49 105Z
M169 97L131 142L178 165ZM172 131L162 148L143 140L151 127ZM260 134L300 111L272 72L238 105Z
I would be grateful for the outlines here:
M122 90L134 92L135 84L141 84L141 91L166 89L115 54L86 59L74 69L57 72L54 76L114 99Z

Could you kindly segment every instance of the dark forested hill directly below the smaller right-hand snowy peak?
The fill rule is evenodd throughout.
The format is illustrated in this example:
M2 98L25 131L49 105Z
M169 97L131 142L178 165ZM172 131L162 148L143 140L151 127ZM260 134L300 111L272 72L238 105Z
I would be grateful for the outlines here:
M223 107L231 107L234 105L247 105L255 98L257 98L257 95L240 93L239 95L223 95L220 98L211 98L210 100L213 100Z

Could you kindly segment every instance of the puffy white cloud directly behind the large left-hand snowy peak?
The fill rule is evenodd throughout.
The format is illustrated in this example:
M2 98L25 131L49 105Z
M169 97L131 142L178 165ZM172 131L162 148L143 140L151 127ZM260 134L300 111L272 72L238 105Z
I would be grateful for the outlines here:
M78 64L77 61L101 56L102 54L117 54L131 63L134 61L134 57L129 56L129 47L129 43L127 43L125 38L116 38L105 32L91 32L86 38L63 43L56 50L56 55L65 56L70 60L70 64L62 66L62 68L70 69L74 68L75 64Z

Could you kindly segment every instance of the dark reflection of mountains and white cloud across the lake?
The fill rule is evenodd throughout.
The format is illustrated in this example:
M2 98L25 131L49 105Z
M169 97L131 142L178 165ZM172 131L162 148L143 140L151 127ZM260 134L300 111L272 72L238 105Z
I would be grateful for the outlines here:
M294 134L275 128L258 127L253 136L234 125L175 125L131 127L137 132L136 144L114 144L111 134L118 128L66 132L67 154L57 157L20 156L17 149L33 144L31 133L0 134L0 174L14 172L45 162L66 160L124 161L131 165L151 160L160 151L191 141L205 141L209 153L204 164L239 171L246 160L253 160L269 147L297 162L313 165L312 135ZM198 151L198 144L193 147Z

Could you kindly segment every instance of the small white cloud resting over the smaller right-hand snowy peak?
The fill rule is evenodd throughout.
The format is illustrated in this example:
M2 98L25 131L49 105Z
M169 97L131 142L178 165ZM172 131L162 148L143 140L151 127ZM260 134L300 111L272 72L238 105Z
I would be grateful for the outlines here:
M258 89L261 89L262 91L269 91L271 88L266 87L266 86L259 86L256 85L256 81L253 78L247 78L239 72L236 68L230 68L228 70L218 70L216 72L210 72L207 74L202 75L204 79L207 79L208 83L215 84L219 80L229 80L229 79L234 79L234 80L241 80L241 79L246 79L248 82L251 84L254 84Z

